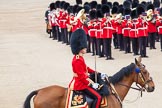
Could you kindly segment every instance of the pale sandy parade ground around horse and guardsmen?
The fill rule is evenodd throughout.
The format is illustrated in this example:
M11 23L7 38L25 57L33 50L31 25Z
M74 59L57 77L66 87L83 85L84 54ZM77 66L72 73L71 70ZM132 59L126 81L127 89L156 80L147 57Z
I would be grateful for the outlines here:
M67 87L72 78L70 47L49 39L45 33L44 12L50 0L0 1L0 108L22 108L33 90L58 84ZM162 52L147 50L143 59L156 89L144 93L130 90L124 108L162 108ZM132 54L113 50L114 61L97 58L97 70L113 75L134 62ZM86 63L94 68L94 57L86 54ZM129 102L128 102L129 101Z

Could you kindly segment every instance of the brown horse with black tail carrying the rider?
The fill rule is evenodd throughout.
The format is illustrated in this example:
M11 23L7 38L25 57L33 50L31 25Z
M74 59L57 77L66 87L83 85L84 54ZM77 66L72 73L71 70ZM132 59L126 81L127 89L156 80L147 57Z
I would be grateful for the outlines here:
M145 89L147 92L153 92L155 88L154 82L141 63L140 57L138 60L135 59L135 64L132 63L113 75L110 81L114 84L121 101L124 100L134 82L140 85L138 86L139 90ZM30 100L34 95L34 108L65 108L67 89L64 87L54 85L33 91L26 98L24 108L31 108ZM107 96L107 100L108 106L105 108L122 108L119 99L114 94Z

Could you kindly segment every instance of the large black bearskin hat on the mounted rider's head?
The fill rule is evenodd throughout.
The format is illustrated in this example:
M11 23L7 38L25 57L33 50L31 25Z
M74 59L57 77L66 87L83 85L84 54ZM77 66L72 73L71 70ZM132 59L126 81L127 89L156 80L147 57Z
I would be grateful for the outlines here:
M83 48L87 48L87 35L83 29L77 29L71 34L70 46L74 55L79 54Z

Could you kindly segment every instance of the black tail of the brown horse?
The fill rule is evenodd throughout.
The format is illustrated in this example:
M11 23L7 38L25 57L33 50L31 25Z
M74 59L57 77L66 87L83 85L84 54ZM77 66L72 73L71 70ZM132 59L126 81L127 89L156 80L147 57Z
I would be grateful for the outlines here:
M23 108L31 108L30 107L30 100L34 95L37 95L37 93L38 93L38 91L33 91L26 97Z

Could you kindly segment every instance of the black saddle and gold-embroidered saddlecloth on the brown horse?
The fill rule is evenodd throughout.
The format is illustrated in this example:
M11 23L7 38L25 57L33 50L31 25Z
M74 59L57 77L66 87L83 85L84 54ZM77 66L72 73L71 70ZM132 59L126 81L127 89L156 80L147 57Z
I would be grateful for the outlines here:
M91 74L90 78L94 81L95 75ZM103 85L97 92L102 96L101 107L108 106L106 96L109 95L107 82L101 79L100 74L97 75L97 81L100 85ZM68 89L66 107L65 108L91 108L91 104L94 100L82 91L75 91Z

